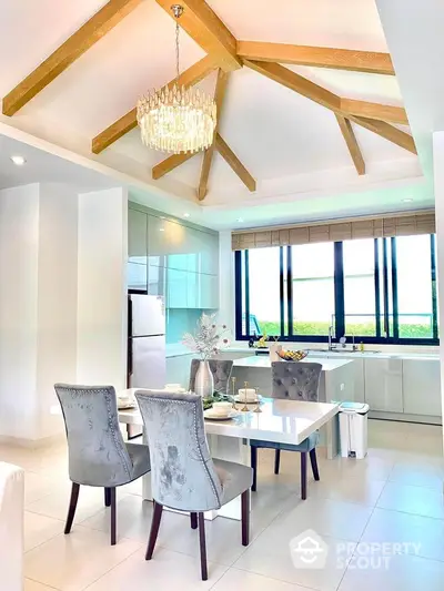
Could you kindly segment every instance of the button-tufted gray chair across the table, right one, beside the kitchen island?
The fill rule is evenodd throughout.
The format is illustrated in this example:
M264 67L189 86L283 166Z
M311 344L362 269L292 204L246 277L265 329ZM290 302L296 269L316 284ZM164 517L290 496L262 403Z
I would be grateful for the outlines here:
M272 366L272 397L287 400L306 400L316 403L319 399L319 384L322 365L312 363L273 361ZM274 449L274 473L279 473L281 451L299 451L301 454L301 497L306 499L306 454L310 455L313 478L320 479L316 458L319 431L310 435L297 446L274 444L272 441L250 440L251 466L253 468L253 486L256 490L258 449Z

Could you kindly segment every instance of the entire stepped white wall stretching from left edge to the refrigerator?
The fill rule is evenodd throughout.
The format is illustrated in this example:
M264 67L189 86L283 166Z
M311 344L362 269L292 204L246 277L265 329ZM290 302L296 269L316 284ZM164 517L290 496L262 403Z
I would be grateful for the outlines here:
M57 381L124 387L127 192L0 191L0 438L63 432Z

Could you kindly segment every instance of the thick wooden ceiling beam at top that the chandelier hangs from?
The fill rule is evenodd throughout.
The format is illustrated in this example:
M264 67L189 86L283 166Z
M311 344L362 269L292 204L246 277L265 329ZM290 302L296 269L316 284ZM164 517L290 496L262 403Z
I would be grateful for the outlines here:
M171 18L171 0L157 0ZM181 0L183 14L179 18L179 24L194 39L218 67L225 72L242 68L242 61L236 54L236 39L221 21L218 14L204 0Z

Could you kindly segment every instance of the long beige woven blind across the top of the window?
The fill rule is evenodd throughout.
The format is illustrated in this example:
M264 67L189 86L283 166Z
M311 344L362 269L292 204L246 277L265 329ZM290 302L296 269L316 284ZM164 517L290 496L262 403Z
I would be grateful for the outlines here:
M233 251L286 246L314 242L340 242L360 238L382 238L434 234L435 213L433 211L380 217L361 217L334 222L316 222L275 228L258 228L233 232Z

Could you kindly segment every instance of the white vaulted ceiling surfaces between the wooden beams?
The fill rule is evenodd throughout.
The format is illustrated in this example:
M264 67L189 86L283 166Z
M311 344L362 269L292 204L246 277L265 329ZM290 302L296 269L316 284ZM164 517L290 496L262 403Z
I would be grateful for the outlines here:
M105 2L103 0L2 0L0 95L4 96ZM387 51L374 0L209 0L225 26L243 40ZM204 57L181 33L181 68ZM395 77L289 67L346 98L403 105ZM281 223L433 204L417 156L354 126L366 164L359 176L334 114L243 68L230 74L221 135L258 182L250 193L215 155L209 193L196 202L202 155L159 181L138 130L99 155L91 140L131 110L138 96L174 78L174 22L154 0L143 0L12 118L0 121L124 173L134 198L169 213L191 208L213 227ZM215 74L200 83L213 92ZM408 114L408 110L407 110ZM4 128L6 129L6 128ZM405 204L404 197L414 197Z

